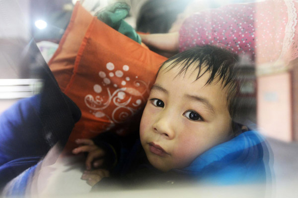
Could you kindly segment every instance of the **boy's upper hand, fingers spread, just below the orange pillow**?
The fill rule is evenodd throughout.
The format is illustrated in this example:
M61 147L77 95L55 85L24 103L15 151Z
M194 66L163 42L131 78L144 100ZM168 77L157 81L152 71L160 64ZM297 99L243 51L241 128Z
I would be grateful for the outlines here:
M79 146L77 148L73 149L74 154L78 154L81 152L88 152L87 158L86 158L86 169L91 170L91 167L97 168L100 167L104 159L103 157L105 156L105 151L96 145L94 145L93 141L90 139L76 139L75 143Z

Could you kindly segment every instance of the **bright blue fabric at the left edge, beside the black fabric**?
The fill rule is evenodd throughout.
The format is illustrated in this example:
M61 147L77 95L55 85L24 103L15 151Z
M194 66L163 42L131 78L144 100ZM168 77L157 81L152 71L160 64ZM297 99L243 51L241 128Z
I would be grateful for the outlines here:
M44 155L51 145L32 101L41 95L22 99L0 115L0 165L26 156Z

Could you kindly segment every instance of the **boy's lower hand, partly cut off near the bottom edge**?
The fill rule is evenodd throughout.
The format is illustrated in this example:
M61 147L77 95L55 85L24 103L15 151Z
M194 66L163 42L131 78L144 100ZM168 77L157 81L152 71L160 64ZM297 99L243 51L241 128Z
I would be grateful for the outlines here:
M82 175L81 179L86 180L87 184L90 186L94 186L96 183L98 183L102 178L109 177L110 172L105 169L97 169L92 171L84 171L84 174Z

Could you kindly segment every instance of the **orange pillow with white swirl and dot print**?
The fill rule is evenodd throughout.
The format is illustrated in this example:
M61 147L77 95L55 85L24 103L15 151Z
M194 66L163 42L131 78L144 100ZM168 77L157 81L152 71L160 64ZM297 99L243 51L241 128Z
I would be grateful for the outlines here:
M80 4L75 5L60 50L49 63L61 89L82 112L69 145L77 138L92 138L117 128L136 114L147 102L156 72L167 59L85 12ZM78 28L82 17L86 21ZM81 41L82 32L85 34ZM74 61L77 40L80 47ZM125 135L123 130L117 133Z

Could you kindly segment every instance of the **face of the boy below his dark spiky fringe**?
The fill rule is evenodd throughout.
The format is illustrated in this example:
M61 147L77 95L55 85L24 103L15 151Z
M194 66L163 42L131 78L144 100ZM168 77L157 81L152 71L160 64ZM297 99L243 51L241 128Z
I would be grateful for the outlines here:
M204 151L232 137L227 92L217 79L205 86L206 72L195 81L189 68L176 76L179 65L159 71L145 107L140 137L149 162L168 171L184 168Z

